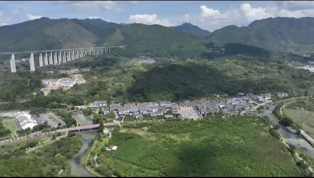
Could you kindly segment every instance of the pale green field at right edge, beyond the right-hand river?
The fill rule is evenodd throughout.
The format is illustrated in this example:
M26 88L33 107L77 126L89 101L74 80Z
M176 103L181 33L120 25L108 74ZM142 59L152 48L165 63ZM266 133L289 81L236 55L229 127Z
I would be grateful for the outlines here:
M301 126L306 133L314 136L314 112L284 108L284 114Z

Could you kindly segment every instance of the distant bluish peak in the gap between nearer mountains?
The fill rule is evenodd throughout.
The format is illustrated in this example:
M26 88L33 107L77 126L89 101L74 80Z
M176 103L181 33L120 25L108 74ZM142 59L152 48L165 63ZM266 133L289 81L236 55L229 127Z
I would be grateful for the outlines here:
M199 28L198 26L192 25L190 23L184 23L182 25L172 26L170 28L175 29L175 30L179 30L179 31L183 31L183 32L187 32L188 34L201 36L201 37L208 37L210 34L212 34L210 31L203 30L203 29Z

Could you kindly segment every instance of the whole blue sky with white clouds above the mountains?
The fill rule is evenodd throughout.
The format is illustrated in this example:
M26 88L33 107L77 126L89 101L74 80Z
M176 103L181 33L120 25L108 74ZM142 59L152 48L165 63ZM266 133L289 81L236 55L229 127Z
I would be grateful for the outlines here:
M263 18L314 17L314 1L0 1L0 26L41 17L164 26L188 22L213 32Z

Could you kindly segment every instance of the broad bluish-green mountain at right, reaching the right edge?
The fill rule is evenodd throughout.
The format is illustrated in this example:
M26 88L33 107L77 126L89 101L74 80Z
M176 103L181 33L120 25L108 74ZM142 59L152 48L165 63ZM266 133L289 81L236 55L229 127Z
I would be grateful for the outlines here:
M216 44L241 43L268 50L310 52L314 47L314 18L267 18L247 27L235 25L215 30L208 38Z

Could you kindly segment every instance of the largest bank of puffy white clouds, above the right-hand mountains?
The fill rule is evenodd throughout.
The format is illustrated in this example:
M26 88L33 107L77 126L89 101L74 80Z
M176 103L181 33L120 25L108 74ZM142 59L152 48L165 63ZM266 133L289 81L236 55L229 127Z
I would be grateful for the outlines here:
M190 21L203 29L213 31L227 25L247 26L254 20L275 17L314 17L314 1L275 1L266 7L252 7L243 3L230 6L224 12L200 6L200 16L189 17Z

